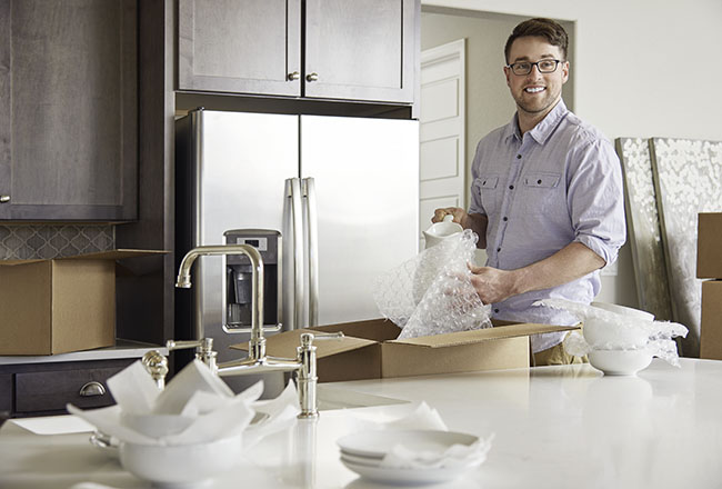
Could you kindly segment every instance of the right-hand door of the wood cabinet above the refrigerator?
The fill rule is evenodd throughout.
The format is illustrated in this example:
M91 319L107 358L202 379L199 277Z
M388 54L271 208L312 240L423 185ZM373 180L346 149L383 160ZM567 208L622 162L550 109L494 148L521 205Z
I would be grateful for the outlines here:
M304 96L413 102L414 0L307 0Z

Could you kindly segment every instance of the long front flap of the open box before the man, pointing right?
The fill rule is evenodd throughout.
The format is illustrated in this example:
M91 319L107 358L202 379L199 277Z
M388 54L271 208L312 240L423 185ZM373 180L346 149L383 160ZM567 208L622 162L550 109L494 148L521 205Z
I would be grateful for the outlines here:
M480 341L495 340L499 338L514 338L520 336L539 335L543 332L570 331L579 326L551 326L523 322L518 325L495 326L493 328L477 329L473 331L457 331L444 335L434 335L403 340L391 340L390 343L415 345L428 348L443 348L459 345L472 345Z

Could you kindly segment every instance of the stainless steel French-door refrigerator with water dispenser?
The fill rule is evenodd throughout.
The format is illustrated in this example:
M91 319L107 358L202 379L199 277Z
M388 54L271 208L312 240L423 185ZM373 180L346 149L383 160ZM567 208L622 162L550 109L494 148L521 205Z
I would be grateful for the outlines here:
M374 279L418 250L417 121L195 110L176 138L177 261L202 244L255 246L269 327L380 317ZM248 322L243 260L200 258L176 295L177 336L202 325L221 362L248 341L223 331ZM224 380L240 390L254 379Z

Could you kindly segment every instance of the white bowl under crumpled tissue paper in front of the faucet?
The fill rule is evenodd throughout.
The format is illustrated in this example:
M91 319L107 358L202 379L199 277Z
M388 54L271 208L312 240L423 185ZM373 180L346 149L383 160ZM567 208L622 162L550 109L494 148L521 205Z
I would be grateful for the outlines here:
M139 479L163 487L198 487L235 467L243 452L241 436L208 443L120 445L120 463Z

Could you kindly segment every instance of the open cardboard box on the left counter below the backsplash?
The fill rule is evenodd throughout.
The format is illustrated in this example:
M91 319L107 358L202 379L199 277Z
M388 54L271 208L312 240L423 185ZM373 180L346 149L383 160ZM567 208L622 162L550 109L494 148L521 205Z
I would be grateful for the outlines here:
M0 355L54 355L116 343L112 250L53 260L0 260Z

